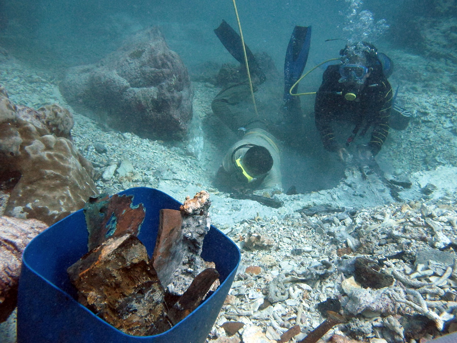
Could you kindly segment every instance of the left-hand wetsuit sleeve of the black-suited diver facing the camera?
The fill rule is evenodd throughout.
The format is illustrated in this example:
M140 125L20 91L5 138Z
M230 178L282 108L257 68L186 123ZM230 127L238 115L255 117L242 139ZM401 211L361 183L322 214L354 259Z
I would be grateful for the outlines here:
M325 149L337 151L339 145L335 139L335 134L331 126L334 120L334 106L332 101L332 79L334 72L331 67L325 70L322 76L322 84L316 94L314 102L314 116L316 128L320 133L320 138Z

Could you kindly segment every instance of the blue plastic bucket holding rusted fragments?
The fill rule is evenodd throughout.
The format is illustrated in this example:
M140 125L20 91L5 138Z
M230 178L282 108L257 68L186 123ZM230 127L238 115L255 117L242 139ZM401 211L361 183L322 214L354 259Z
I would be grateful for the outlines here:
M152 188L131 188L119 194L134 195L146 217L139 238L152 255L159 210L178 210L181 203ZM201 343L208 336L232 286L240 252L222 232L211 226L202 257L213 261L220 287L189 316L170 330L153 336L132 336L119 331L75 300L76 289L67 268L87 253L87 229L82 210L55 223L25 248L19 280L17 337L19 343Z

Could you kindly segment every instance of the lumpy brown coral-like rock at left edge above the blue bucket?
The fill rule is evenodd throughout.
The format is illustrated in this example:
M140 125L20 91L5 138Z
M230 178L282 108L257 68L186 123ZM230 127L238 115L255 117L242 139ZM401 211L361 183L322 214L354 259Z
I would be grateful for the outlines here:
M0 185L9 193L5 215L51 225L96 193L90 162L70 140L52 134L70 136L72 125L70 112L57 105L40 111L17 107L0 87Z

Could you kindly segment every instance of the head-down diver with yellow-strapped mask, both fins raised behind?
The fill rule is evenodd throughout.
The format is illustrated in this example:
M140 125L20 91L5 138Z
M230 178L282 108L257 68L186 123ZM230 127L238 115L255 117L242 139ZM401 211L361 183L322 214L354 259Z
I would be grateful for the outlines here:
M238 191L281 189L280 151L278 142L271 133L278 130L275 124L246 108L246 104L250 102L250 87L244 67L241 38L225 21L222 21L214 32L228 52L241 63L241 72L244 75L241 82L224 87L211 104L214 114L232 131L244 133L225 154L216 174L217 187ZM288 90L300 78L306 65L310 37L310 26L296 26L289 40L284 63L286 91L279 112L288 127L297 129L297 132L303 124L300 99L289 95ZM266 77L246 45L245 49L255 88L262 84Z

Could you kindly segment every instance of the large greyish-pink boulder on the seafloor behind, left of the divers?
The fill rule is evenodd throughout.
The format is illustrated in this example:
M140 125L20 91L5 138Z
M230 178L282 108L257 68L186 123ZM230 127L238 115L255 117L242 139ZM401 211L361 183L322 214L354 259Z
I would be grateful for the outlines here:
M157 27L136 33L95 65L71 68L60 91L72 106L143 138L183 139L192 117L187 69Z

